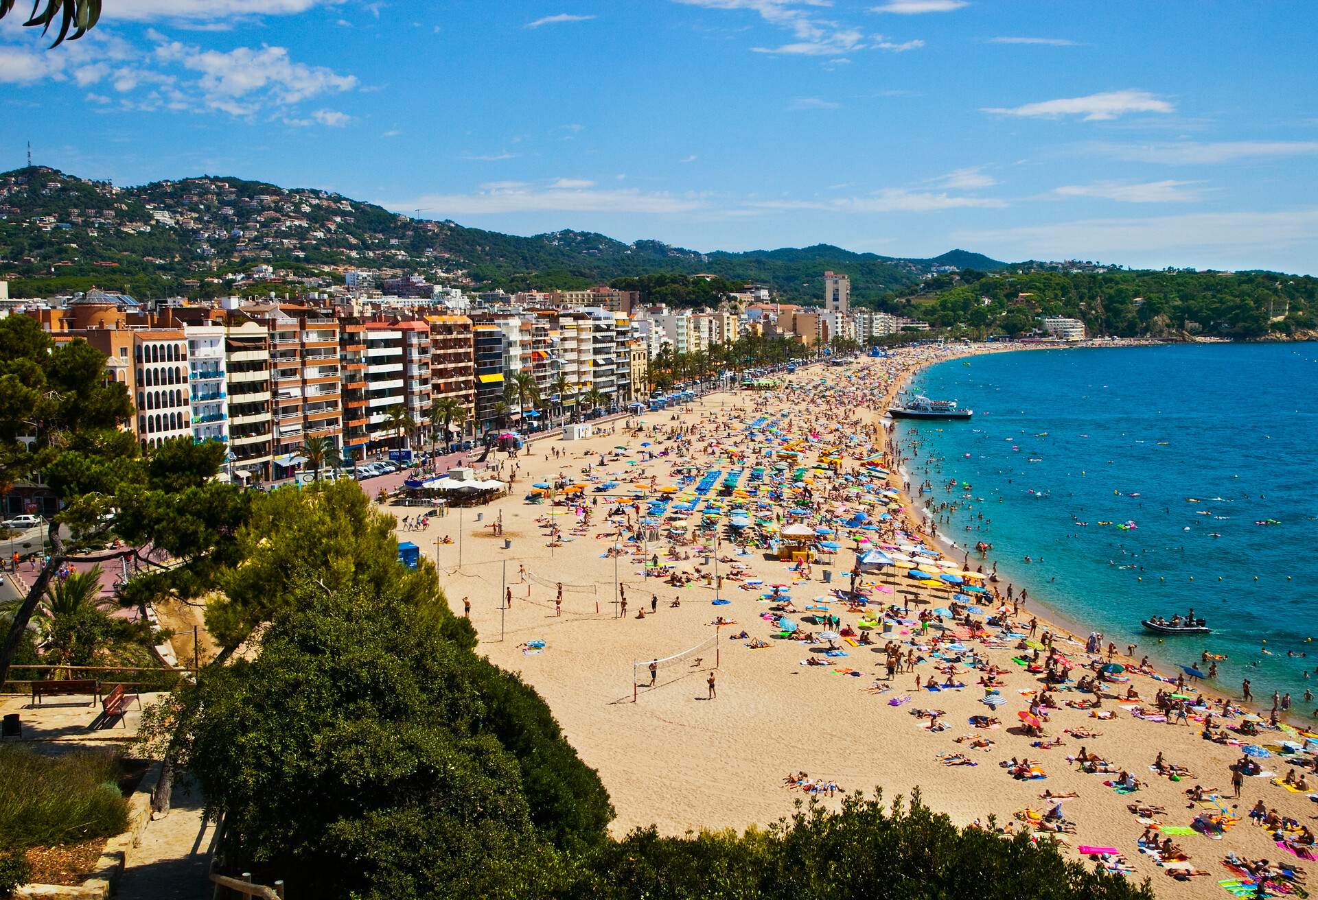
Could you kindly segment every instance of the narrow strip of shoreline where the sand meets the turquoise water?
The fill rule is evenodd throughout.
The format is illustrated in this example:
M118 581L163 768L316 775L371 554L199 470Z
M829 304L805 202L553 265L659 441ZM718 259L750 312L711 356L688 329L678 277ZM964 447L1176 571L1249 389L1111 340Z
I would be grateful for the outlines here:
M1120 344L1115 344L1115 343L1114 344L1107 344L1107 343L1085 341L1085 343L1079 343L1079 344L1053 344L1053 345L1046 345L1046 347L1045 345L1012 347L1010 349L990 349L991 345L973 345L971 348L969 348L963 353L957 353L957 354L953 354L953 356L946 356L946 357L940 358L940 360L925 360L925 361L920 361L920 362L916 362L916 364L911 365L905 372L903 372L903 374L902 374L900 378L894 380L892 389L888 391L888 394L884 395L884 406L887 406L891 402L892 397L895 397L896 393L899 393L900 390L903 390L904 387L907 387L925 369L929 369L932 366L941 365L941 364L945 364L945 362L953 362L956 360L971 358L971 357L977 357L977 356L988 356L988 354L992 354L992 353L1011 353L1011 352L1024 352L1024 351L1045 351L1045 349L1052 349L1052 351L1057 351L1057 349L1107 349L1107 348L1122 348L1122 349L1126 349L1126 348L1131 348L1131 347L1165 347L1165 345L1168 345L1165 341L1156 341L1156 343L1149 343L1149 341L1131 341L1131 343L1120 343ZM896 434L898 420L895 420L895 419L892 419L892 420L884 419L886 415L887 415L886 410L880 411L879 412L879 420L880 422L891 422L891 428L886 427L886 431L890 435L890 437L892 439L894 453L896 455L896 459L899 460L899 464L895 468L895 472L900 474L900 484L898 484L895 486L895 489L900 492L902 501L905 505L908 513L911 514L909 515L911 523L912 524L917 524L920 534L927 535L929 538L929 542L940 552L942 552L944 555L949 556L950 559L956 559L958 555L965 555L966 552L970 552L973 555L974 551L971 548L961 547L961 544L958 544L956 540L950 540L948 535L945 535L942 531L940 531L938 527L934 524L933 519L925 513L924 507L916 502L917 495L912 497L911 492L908 492L905 489L905 484L909 482L911 472L907 468L907 460L905 460L905 457L900 456L902 447L898 444L898 434ZM974 560L971 559L971 561L974 561ZM991 564L994 561L994 559L991 556L986 556L981 561L985 563L985 565L987 567L988 564ZM1002 586L1002 590L1006 590L1007 585L1011 585L1015 589L1020 589L1020 588L1024 588L1027 590L1035 590L1036 589L1036 585L1032 585L1032 584L1016 584L1016 582L1014 582L1014 581L1011 581L1010 578L1006 578L1006 577L1003 577L1003 580L999 581L999 582L996 582L996 584L999 584ZM1085 625L1085 622L1081 618L1077 618L1077 617L1074 617L1074 615L1072 615L1072 614L1069 614L1069 613L1066 613L1064 610L1057 609L1054 605L1049 604L1049 601L1046 598L1040 598L1039 596L1031 594L1031 597L1029 597L1029 600L1027 602L1028 604L1033 604L1033 606L1028 609L1028 613L1032 617L1035 617L1035 618L1039 619L1040 626L1052 630L1054 634L1061 634L1061 635L1069 638L1070 640L1074 640L1074 642L1079 643L1081 646L1085 644L1085 640L1079 635L1083 634L1085 631L1099 631L1099 634L1102 634L1102 631L1099 629L1094 629L1094 627L1090 627L1090 626ZM1025 604L1021 604L1021 611L1027 611ZM1104 639L1107 639L1106 635L1104 635ZM1156 664L1157 660L1160 658L1162 658L1162 654L1159 652L1157 644L1155 644L1153 648L1151 648L1144 655L1147 655L1149 658L1149 661L1151 661L1151 665L1147 667L1148 672L1152 672L1157 677L1166 679L1169 681L1176 681L1176 676L1174 675L1169 676L1168 672L1164 671L1164 667L1160 667L1160 665ZM1128 663L1132 667L1137 665L1137 663L1139 663L1139 658L1127 655L1126 652L1123 652L1123 650L1120 647L1118 647L1116 659L1122 660L1123 664ZM1180 663L1169 663L1166 659L1162 659L1162 663L1164 663L1164 665L1173 665L1173 667L1180 667L1181 665ZM1191 664L1193 664L1193 660L1191 660ZM1227 698L1231 704L1234 704L1236 706L1242 706L1244 709L1248 709L1253 714L1265 718L1265 712L1268 712L1268 710L1264 709L1264 705L1259 702L1257 697L1255 700L1246 701L1246 700L1243 700L1243 697L1242 697L1242 694L1240 694L1239 690L1234 690L1234 689L1230 689L1230 688L1223 688L1223 687L1220 687L1217 683L1207 681L1206 679L1198 681L1197 684L1201 688L1199 693L1205 693L1207 696L1207 689L1211 689L1217 694L1214 697L1214 700ZM1311 722L1307 722L1305 719L1297 719L1293 713L1294 713L1294 710L1288 710L1288 713L1284 713L1284 714L1278 716L1278 721L1286 722L1288 725L1292 725L1292 726L1300 727L1300 729L1305 729L1305 727L1309 727L1311 725Z

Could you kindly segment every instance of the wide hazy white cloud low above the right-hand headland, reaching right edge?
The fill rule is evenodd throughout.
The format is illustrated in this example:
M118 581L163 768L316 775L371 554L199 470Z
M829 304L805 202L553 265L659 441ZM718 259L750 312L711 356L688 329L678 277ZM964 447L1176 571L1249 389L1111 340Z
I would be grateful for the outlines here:
M1269 252L1294 246L1314 246L1318 210L1277 212L1193 212L1147 219L1082 219L1046 225L1025 225L995 231L962 231L952 235L962 246L974 245L1012 258L1093 260L1115 254L1139 254L1148 261L1155 254L1174 258L1180 265L1190 253L1238 253L1242 248ZM1256 257L1259 250L1251 249Z

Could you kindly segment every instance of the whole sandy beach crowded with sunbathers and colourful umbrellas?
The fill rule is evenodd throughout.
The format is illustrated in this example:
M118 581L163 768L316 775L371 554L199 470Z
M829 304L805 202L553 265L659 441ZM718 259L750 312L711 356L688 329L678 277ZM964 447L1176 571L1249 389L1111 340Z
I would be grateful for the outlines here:
M1041 799L1044 791L1073 792L1075 797L1058 810L1060 820L1069 824L1062 825L1066 833L1056 835L1070 847L1066 853L1075 855L1081 846L1115 849L1128 860L1133 878L1152 878L1155 891L1166 897L1207 896L1219 889L1218 882L1236 879L1239 874L1223 864L1227 853L1242 859L1265 858L1275 864L1306 864L1248 817L1261 799L1280 816L1309 829L1315 826L1318 804L1307 795L1314 793L1311 783L1318 776L1310 771L1307 791L1298 792L1271 783L1292 768L1278 759L1280 742L1302 743L1304 737L1272 730L1248 737L1226 730L1223 741L1231 743L1218 743L1201 737L1202 709L1190 710L1186 723L1178 725L1137 718L1132 709L1156 712L1155 694L1160 688L1172 692L1176 685L1135 671L1136 660L1122 655L1115 660L1104 655L1095 663L1115 661L1128 669L1118 675L1128 681L1103 683L1102 706L1097 710L1102 718L1097 718L1095 710L1068 705L1093 697L1075 689L1079 677L1097 675L1085 668L1098 656L1086 652L1083 640L1053 627L1032 606L1016 614L1008 606L1004 615L986 623L1002 602L990 594L1004 585L985 582L987 593L977 593L970 604L975 611L962 602L960 609L953 607L961 613L953 621L932 613L954 602L953 584L932 586L907 577L905 569L884 567L861 578L858 588L866 600L862 607L849 602L861 597L847 592L857 555L844 534L834 538L841 549L812 563L808 573L793 571L789 561L779 560L764 547L735 546L728 527L728 507L742 501L770 503L754 518L779 524L789 519L784 507L803 503L813 510L812 526L862 509L874 517L871 522L886 513L891 519L867 532L874 546L890 547L892 553L912 546L933 547L932 535L921 534L911 518L912 505L904 494L879 497L880 503L866 503L865 498L873 497L879 486L896 492L903 488L899 461L890 456L888 432L882 423L887 397L912 370L953 353L923 348L887 358L862 358L849 366L812 365L787 376L788 387L780 390L710 394L677 410L606 424L602 434L587 440L554 436L529 444L515 459L500 453L496 477L511 480L506 497L461 515L451 511L432 518L419 531L401 527L399 539L415 542L435 559L456 613L463 613L464 598L469 601L480 651L498 665L519 672L548 701L568 741L600 771L618 813L614 822L618 833L651 822L671 834L766 825L809 796L800 787L784 783L789 773L805 772L809 781L837 785L833 799L826 792L821 797L825 804L838 802L840 792L882 788L884 796L892 797L919 788L929 805L958 824L979 820L987 825L988 817L995 816L999 826L1011 824L1015 829L1035 828L1024 810L1043 814L1057 802ZM771 466L784 459L778 453L759 456L764 431L772 424L783 440L795 441L779 448L789 445L800 453L788 457L791 465L784 468L805 470L795 482L787 478L788 472L778 476L779 486L788 493L809 486L808 494L793 501L767 501L774 480ZM821 457L834 461L821 463ZM755 465L768 469L759 490L746 480ZM870 468L863 469L866 465ZM687 466L688 481L680 484L680 469ZM875 466L884 466L891 474L875 476ZM747 473L738 476L742 480L737 488L749 488L749 493L720 498L722 509L714 509L720 513L721 543L712 555L722 560L721 576L734 567L739 575L737 580L724 580L717 590L729 602L713 605L714 585L702 577L709 573L712 581L714 567L713 560L705 563L705 552L700 549L710 546L697 534L701 514L692 513L685 519L684 534L691 536L676 540L668 535L681 532L671 532L670 526L680 526L681 517L671 510L655 524L642 524L641 519L647 515L647 499L663 495L675 501L693 497L695 502L702 502L702 510L709 510L722 478L737 469ZM721 474L706 494L695 493L696 481L710 470ZM845 480L849 476L854 482ZM575 503L551 506L551 501L525 499L534 484L585 488ZM616 486L596 490L601 484ZM853 484L862 485L863 493L849 488ZM563 495L561 488L552 493ZM836 513L838 507L844 509L841 515ZM386 509L401 518L424 507ZM590 513L588 522L579 515L584 510ZM612 518L610 511L614 511ZM497 524L501 534L496 534ZM555 526L561 539L551 542L550 528ZM776 524L767 527L776 531ZM638 528L641 542L630 542ZM444 543L445 536L452 543ZM622 547L621 555L610 553L614 544ZM672 559L671 552L679 559ZM672 577L655 575L655 561L670 567L666 575L676 572L677 580L681 576L695 580L675 585ZM944 572L957 572L961 561L956 556L956 565L949 564ZM978 563L971 555L969 565ZM560 581L563 601L556 610L555 585ZM979 582L966 577L961 584ZM770 585L784 585L783 592L789 593L792 606L787 613ZM503 604L507 592L510 607ZM923 602L908 607L907 592ZM614 602L619 594L627 601L625 615ZM680 606L672 606L675 600L680 600ZM807 606L818 606L813 611L820 615L838 617L842 635L858 636L863 622L874 621L878 610L892 604L895 610L883 617L886 630L873 630L873 644L833 642L845 656L825 656L826 642L808 644L774 636L780 633L783 615L797 623L801 633L824 631L805 618L811 615ZM645 610L643 618L637 615L638 609ZM929 622L915 619L921 611ZM768 619L763 618L766 614ZM716 627L717 617L734 625ZM1039 618L1033 635L1006 636L1027 634L1032 617ZM746 638L734 639L742 631ZM1028 734L1019 713L1027 712L1046 685L1041 683L1041 671L1028 671L1014 659L1032 663L1037 654L1039 664L1033 668L1046 668L1049 650L1041 639L1048 631L1057 635L1053 648L1058 665L1065 659L1065 667L1072 667L1070 677L1066 684L1054 685L1056 705L1043 710L1048 718L1041 735ZM755 640L767 646L749 646ZM890 680L883 652L887 642L900 646L903 660L915 651L921 661L913 671L903 665ZM651 659L693 647L701 650L659 664L655 684L650 687ZM803 664L807 659L821 664ZM641 665L634 669L637 663ZM966 687L916 689L917 679L944 684L949 665L954 667L950 680ZM634 671L642 685L635 689ZM709 698L710 673L717 687L714 698ZM1000 681L1000 687L991 688L996 690L995 705L985 702L990 688L981 687L981 679ZM1128 690L1136 692L1139 700L1126 702ZM1195 693L1195 685L1186 688L1188 696ZM912 714L915 710L941 710L937 721L945 730L937 726L931 730L931 719ZM1243 713L1223 716L1220 710L1220 702L1213 704L1215 729L1234 729L1243 722ZM971 726L970 717L985 716L995 717L1000 725ZM1101 734L1072 735L1077 729ZM992 745L975 746L985 741ZM1036 746L1039 742L1044 746ZM1272 747L1275 752L1257 760L1264 775L1244 777L1240 797L1235 799L1228 767L1242 759L1242 746L1248 743ZM1079 771L1075 758L1082 748L1110 763L1111 772ZM1153 771L1160 752L1165 763L1185 767L1190 775L1170 780ZM961 754L973 764L944 764L950 754ZM999 764L1012 758L1031 763L1020 775L1033 771L1045 777L1015 777ZM1119 792L1104 784L1123 771L1139 780L1137 791ZM1217 793L1220 799L1191 801L1186 789L1195 784L1206 796ZM1162 812L1141 817L1130 812L1131 804ZM1224 834L1210 837L1190 829L1201 814L1205 818L1197 828L1213 831L1224 825ZM1141 853L1136 839L1153 822L1169 829L1160 833L1160 839L1170 837L1184 850L1170 857L1185 855L1188 862L1160 864ZM1300 850L1304 853L1302 846ZM1114 866L1115 857L1110 858ZM1205 874L1188 876L1185 882L1168 876L1168 871L1177 868Z

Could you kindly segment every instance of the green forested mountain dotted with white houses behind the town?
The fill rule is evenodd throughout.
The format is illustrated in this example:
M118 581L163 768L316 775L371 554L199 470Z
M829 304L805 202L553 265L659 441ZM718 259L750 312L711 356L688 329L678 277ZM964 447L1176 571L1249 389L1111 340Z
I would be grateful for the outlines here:
M754 281L784 300L817 299L821 275L851 278L853 298L875 302L946 266L1004 264L953 250L932 260L816 245L697 253L660 241L625 244L560 231L532 237L397 215L339 194L231 177L117 187L33 166L0 174L0 278L14 296L96 285L144 298L217 295L224 275L258 264L315 286L343 267L420 273L459 285L587 287L662 271Z

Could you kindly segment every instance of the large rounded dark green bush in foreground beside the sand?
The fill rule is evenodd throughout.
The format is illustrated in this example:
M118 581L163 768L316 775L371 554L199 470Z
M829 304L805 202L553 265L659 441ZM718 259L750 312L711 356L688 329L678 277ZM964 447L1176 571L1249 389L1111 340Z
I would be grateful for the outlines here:
M179 702L225 864L308 896L546 896L613 817L544 701L398 596L308 593Z

